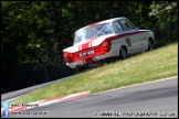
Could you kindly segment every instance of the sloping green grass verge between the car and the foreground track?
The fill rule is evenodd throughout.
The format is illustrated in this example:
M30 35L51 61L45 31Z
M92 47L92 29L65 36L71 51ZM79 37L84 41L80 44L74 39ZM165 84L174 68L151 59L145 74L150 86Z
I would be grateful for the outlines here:
M178 42L165 47L144 52L125 61L86 71L44 88L33 90L23 97L12 100L12 104L27 104L91 90L104 91L133 84L151 82L178 75Z

